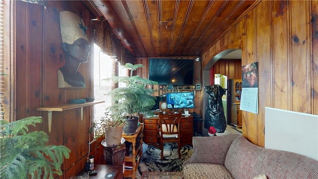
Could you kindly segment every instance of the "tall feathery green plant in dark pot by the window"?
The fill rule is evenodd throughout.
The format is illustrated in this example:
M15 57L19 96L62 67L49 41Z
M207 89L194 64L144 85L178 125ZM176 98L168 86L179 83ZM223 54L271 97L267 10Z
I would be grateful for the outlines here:
M111 111L112 114L124 116L129 123L125 126L124 131L127 135L131 135L138 127L139 114L148 113L151 111L151 107L156 104L156 97L152 95L155 89L150 89L149 85L157 85L158 83L133 75L133 72L138 68L145 68L142 64L126 63L120 66L130 70L130 75L129 77L113 76L104 79L113 83L126 84L126 87L119 87L108 93L111 95L112 105L106 110Z

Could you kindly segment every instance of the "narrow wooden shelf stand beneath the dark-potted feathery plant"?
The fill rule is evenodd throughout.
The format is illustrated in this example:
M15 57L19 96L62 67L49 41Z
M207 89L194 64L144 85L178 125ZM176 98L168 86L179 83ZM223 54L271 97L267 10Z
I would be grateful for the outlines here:
M123 138L125 138L126 141L133 143L133 156L125 156L124 161L125 162L132 162L133 163L133 170L125 170L123 176L129 177L132 179L136 178L136 171L138 169L138 165L140 162L140 157L143 155L143 133L144 130L144 123L140 123L137 132L135 132L134 135L126 135L123 134ZM136 146L136 138L140 137L139 146ZM138 160L136 160L136 157L139 155Z

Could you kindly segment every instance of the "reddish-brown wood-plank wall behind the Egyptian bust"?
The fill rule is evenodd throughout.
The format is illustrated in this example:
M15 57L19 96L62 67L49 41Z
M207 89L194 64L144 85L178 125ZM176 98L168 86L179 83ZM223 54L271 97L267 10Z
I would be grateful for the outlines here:
M47 9L40 4L10 1L10 43L13 45L10 46L10 64L6 66L10 83L6 85L14 92L5 96L5 102L6 107L14 113L6 114L5 117L9 118L9 121L14 121L28 116L43 116L43 123L32 130L43 130L48 133L49 145L65 145L71 149L70 159L63 163L64 174L60 177L69 179L84 168L88 156L88 129L92 107L83 107L83 120L80 108L63 112L53 111L51 133L48 132L48 113L37 111L36 108L65 104L69 103L70 99L92 96L93 51L88 57L88 62L79 66L86 88L58 88L57 70L64 65L59 12L69 10L83 19L88 27L87 37L91 47L94 25L90 19L96 17L92 16L80 1L46 2Z

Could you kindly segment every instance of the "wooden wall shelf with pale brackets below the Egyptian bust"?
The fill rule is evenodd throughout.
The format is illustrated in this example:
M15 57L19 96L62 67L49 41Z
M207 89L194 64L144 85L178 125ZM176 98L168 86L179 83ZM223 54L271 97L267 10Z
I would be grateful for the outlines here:
M36 110L39 111L48 111L48 124L49 124L49 133L51 133L51 127L52 127L52 111L59 111L63 112L65 110L69 109L75 109L75 108L81 108L80 114L81 114L81 120L83 120L83 107L90 106L94 104L103 103L105 101L92 101L92 102L84 102L80 104L61 104L61 105L55 105L55 106L49 106L49 107L38 107Z

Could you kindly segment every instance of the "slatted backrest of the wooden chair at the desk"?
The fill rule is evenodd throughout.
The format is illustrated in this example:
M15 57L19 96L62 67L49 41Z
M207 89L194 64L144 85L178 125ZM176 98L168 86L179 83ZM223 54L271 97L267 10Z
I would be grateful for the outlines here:
M160 133L165 135L179 134L182 113L158 114Z

